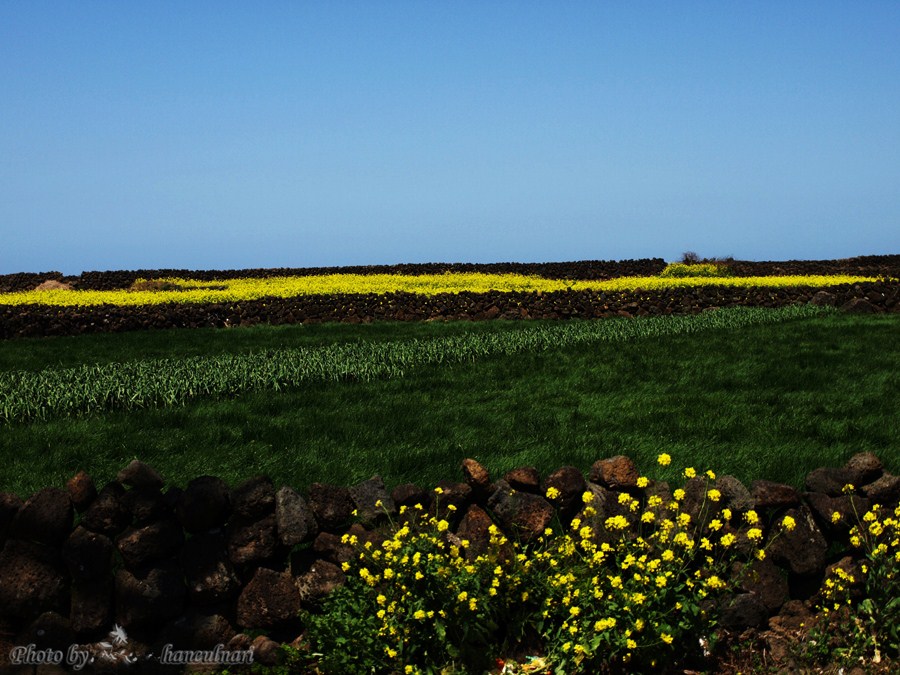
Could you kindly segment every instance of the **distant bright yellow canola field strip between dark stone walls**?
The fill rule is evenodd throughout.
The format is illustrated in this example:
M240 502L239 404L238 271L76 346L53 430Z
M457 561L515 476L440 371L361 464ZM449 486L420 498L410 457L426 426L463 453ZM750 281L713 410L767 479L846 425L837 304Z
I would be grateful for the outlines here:
M221 303L292 298L301 295L336 295L348 293L406 292L423 295L439 293L485 293L564 291L652 291L674 287L727 286L767 287L835 286L866 281L877 277L848 275L782 276L782 277L619 277L607 281L571 281L544 279L522 274L446 273L421 276L397 274L328 274L307 277L270 277L268 279L224 279L194 281L191 279L158 279L184 290L115 290L78 291L47 290L0 293L0 305L157 305L163 303Z

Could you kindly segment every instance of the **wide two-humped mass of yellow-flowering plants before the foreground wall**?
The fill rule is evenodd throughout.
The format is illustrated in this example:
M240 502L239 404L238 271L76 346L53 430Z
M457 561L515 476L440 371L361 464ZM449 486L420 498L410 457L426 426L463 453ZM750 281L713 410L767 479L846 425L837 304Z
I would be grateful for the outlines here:
M668 465L671 457L659 461ZM744 514L745 535L732 524L724 496L709 483L714 473L685 476L694 481L691 495L705 497L690 512L684 489L672 498L623 492L615 500L587 490L562 531L548 527L528 544L491 525L487 546L473 547L453 533L450 516L403 507L402 526L379 545L344 536L357 552L343 565L348 593L369 598L379 658L397 670L432 658L435 635L470 641L494 630L488 626L511 625L515 612L536 622L557 672L597 672L610 659L652 669L651 657L671 656L671 645L704 634L707 598L729 587L731 564L746 552L740 544L762 546L765 538L755 511ZM559 497L553 487L545 494ZM894 522L870 518L858 536ZM774 535L795 526L784 517ZM765 550L755 555L764 558Z

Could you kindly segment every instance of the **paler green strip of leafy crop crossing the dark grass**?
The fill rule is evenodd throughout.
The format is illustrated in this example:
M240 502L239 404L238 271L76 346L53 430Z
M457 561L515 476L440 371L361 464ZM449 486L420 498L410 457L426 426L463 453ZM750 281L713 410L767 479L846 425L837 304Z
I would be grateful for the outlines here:
M571 321L519 330L432 339L355 342L182 359L147 359L38 372L0 373L0 423L113 410L183 405L199 397L279 391L310 382L402 377L425 364L474 361L577 344L775 323L821 314L822 308L727 308L694 316Z

